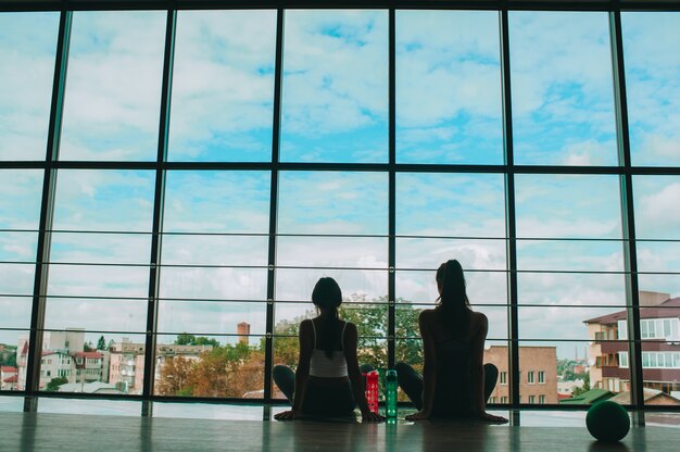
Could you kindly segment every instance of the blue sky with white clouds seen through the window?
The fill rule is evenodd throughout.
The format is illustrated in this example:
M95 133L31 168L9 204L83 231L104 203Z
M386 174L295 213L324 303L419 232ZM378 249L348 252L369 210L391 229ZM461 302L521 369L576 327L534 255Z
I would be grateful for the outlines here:
M679 21L622 14L634 165L679 164ZM58 23L0 14L0 160L45 155ZM272 11L178 14L168 160L269 161L275 26ZM606 13L511 12L509 26L515 163L616 165ZM503 163L498 27L495 12L398 11L398 163ZM164 33L163 12L74 14L60 159L155 159ZM387 12L288 12L284 49L280 160L387 162ZM154 177L59 172L46 327L141 340ZM0 342L29 324L41 181L0 170ZM572 357L582 322L625 303L618 178L517 175L515 190L520 339ZM680 177L633 176L633 192L640 287L680 296L680 244L653 241L680 240ZM242 321L265 332L269 193L266 171L168 172L161 341ZM307 312L320 276L387 294L388 194L387 173L279 174L275 321ZM456 258L490 340L506 339L503 175L400 172L395 197L398 299L431 305Z

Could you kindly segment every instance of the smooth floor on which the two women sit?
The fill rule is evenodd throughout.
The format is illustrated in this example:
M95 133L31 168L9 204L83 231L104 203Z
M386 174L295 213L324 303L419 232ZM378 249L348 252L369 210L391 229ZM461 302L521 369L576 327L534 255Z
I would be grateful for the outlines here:
M582 427L424 422L289 423L0 413L0 451L680 451L680 429L632 428L615 444Z

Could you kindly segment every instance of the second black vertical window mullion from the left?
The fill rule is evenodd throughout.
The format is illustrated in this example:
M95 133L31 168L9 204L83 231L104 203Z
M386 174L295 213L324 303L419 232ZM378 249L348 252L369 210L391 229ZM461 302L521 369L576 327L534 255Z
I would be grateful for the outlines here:
M151 416L153 385L155 377L156 324L159 313L159 289L161 282L161 252L163 248L163 208L165 202L166 174L163 163L167 161L167 139L169 129L173 64L175 59L175 30L177 11L167 11L165 26L165 50L163 62L163 85L161 90L161 115L159 122L159 148L155 170L155 192L153 201L153 229L151 235L151 256L149 268L149 299L147 304L147 330L144 347L144 379L142 388L142 416Z

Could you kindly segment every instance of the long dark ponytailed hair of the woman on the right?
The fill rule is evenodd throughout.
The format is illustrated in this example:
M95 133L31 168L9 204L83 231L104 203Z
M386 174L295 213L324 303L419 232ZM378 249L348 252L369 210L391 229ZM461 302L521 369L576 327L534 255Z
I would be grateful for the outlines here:
M454 331L465 331L469 325L470 301L465 291L463 267L455 259L446 261L437 269L437 287L439 287L439 306L446 327ZM449 328L446 328L449 329Z

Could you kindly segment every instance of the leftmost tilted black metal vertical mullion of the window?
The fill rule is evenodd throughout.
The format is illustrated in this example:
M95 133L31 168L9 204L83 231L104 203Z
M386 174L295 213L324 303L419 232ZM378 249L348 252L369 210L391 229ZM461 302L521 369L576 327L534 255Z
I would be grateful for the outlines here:
M66 70L68 67L68 47L71 43L71 25L73 13L61 13L56 54L54 58L54 78L52 83L52 101L48 128L45 176L42 178L42 200L40 205L40 224L38 226L38 247L36 253L36 272L33 288L33 307L30 313L30 332L28 356L26 362L26 399L24 411L35 412L38 399L35 397L40 386L40 359L42 351L42 330L45 328L45 310L49 277L50 248L52 243L52 221L54 219L54 194L56 190L56 170L52 163L59 159L62 114L64 110L64 89ZM17 350L17 353L20 351Z

